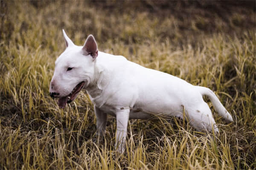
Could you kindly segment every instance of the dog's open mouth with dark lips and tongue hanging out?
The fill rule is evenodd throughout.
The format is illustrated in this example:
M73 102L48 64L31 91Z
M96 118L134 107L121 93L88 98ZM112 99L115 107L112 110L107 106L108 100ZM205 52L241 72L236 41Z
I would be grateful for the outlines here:
M58 105L61 109L63 109L66 105L66 103L72 102L74 99L76 99L76 96L79 94L81 89L84 87L85 82L80 82L76 87L71 91L71 93L68 96L61 97L58 100Z

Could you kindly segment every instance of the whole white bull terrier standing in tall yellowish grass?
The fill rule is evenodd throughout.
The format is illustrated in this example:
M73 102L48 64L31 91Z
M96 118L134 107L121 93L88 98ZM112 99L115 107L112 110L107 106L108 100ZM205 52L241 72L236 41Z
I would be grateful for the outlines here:
M63 34L67 48L55 62L50 96L59 98L58 105L64 108L85 88L94 105L98 133L105 133L107 114L116 117L119 152L125 149L128 119L148 119L151 113L186 116L197 130L218 133L202 95L209 97L224 119L233 122L230 113L209 88L191 85L122 56L100 52L92 35L87 37L84 46L77 46L64 30Z

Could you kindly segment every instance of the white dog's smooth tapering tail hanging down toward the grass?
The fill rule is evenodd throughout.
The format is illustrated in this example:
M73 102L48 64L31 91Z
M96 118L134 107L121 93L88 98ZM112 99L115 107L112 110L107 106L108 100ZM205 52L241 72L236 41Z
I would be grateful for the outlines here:
M221 104L219 101L218 97L211 91L209 88L201 87L201 86L196 86L201 93L201 95L206 95L209 97L209 99L212 102L212 105L214 106L215 110L221 115L225 120L229 122L233 122L233 118L228 113L228 111L224 108L224 106Z

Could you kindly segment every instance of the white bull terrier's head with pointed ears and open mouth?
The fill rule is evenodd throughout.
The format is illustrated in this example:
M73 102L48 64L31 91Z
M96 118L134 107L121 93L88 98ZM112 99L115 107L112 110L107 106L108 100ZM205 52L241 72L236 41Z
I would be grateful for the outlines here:
M94 62L98 56L97 43L89 35L84 46L75 45L64 30L66 50L56 59L50 83L50 96L59 98L58 105L64 108L72 102L79 91L94 79Z

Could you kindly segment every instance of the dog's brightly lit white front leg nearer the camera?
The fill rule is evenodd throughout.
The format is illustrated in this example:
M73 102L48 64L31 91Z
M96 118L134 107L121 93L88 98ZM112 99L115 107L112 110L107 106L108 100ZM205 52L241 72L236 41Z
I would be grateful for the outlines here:
M116 149L119 153L125 151L125 140L130 109L123 109L116 112Z

